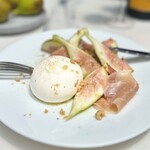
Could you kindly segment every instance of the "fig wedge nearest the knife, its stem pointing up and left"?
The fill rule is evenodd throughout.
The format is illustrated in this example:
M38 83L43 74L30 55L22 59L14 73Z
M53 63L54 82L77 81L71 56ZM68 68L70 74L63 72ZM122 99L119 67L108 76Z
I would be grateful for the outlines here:
M113 71L133 71L124 59L120 59L108 47L94 39L94 37L89 34L87 34L86 37L92 42L97 57L109 73Z

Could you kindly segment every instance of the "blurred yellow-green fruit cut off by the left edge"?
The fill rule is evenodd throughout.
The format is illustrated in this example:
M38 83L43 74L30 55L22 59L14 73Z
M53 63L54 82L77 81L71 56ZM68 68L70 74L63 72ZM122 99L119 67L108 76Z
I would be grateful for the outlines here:
M7 0L0 0L0 23L8 19L10 12L10 3Z

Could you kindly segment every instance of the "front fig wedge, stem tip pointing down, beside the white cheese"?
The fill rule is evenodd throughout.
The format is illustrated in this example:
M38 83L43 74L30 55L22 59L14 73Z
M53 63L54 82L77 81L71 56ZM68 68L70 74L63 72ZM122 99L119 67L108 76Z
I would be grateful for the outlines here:
M103 96L107 76L105 69L100 67L81 81L79 90L73 99L72 109L66 117L67 120L89 108Z

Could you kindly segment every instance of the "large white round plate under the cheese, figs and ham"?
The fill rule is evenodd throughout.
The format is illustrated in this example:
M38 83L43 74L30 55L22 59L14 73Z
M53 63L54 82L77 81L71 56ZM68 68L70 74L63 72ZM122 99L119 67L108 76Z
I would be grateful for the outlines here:
M44 56L40 51L43 41L58 34L69 38L75 29L56 30L30 36L0 52L0 60L35 66ZM90 30L99 39L114 38L120 47L142 49L120 36ZM62 105L48 105L36 100L29 89L29 80L16 82L0 80L0 120L17 133L32 140L61 147L103 147L129 140L150 128L150 61L122 54L134 68L139 91L117 115L109 114L102 121L94 118L90 108L70 121L63 120L61 108L67 113L71 101ZM24 83L25 82L25 83ZM48 109L48 113L44 110Z

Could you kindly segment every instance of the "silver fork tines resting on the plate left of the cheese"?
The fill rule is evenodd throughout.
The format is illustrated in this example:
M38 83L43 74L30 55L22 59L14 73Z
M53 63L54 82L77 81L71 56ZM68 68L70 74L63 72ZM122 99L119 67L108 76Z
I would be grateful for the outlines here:
M32 71L27 65L0 61L0 79L29 79Z

